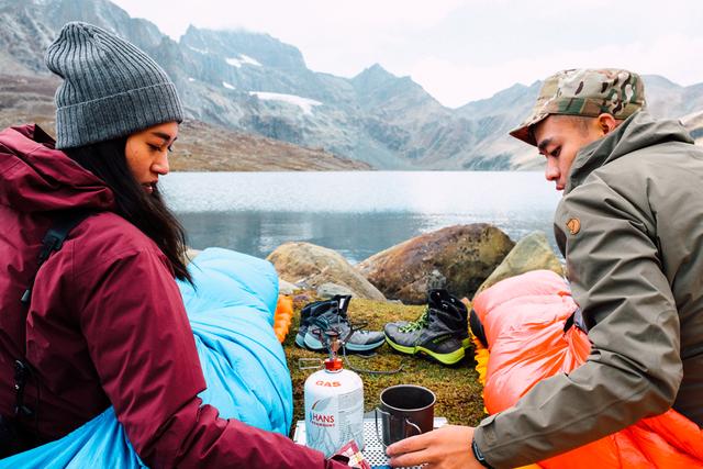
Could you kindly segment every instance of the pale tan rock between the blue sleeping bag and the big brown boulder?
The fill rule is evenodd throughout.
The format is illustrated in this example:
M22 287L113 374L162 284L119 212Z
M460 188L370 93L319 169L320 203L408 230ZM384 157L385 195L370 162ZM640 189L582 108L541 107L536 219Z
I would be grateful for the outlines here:
M310 243L286 243L267 259L280 278L305 288L323 283L346 287L355 297L383 301L386 298L369 283L339 253Z

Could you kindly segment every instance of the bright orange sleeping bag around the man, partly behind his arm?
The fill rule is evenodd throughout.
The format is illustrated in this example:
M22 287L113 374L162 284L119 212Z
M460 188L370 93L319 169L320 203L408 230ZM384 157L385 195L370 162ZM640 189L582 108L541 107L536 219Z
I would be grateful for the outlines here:
M583 364L590 342L563 332L577 304L549 270L503 280L473 301L488 343L483 399L490 414L512 406L539 380ZM478 340L477 357L486 355ZM484 360L479 360L479 362ZM539 462L544 468L703 468L703 431L674 410Z

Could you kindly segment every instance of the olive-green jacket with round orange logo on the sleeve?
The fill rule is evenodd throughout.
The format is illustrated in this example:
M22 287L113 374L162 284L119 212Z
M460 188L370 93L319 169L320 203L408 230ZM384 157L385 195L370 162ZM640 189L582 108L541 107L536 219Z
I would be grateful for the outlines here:
M481 422L487 461L543 460L671 406L703 426L703 148L635 113L577 155L555 235L592 350Z

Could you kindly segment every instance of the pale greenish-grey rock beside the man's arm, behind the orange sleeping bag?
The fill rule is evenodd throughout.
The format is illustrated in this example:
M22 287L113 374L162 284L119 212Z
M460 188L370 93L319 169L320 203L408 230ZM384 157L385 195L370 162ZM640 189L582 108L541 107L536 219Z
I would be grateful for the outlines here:
M563 276L561 261L549 246L543 232L532 232L522 238L500 266L479 287L476 294L509 277L515 277L531 270L553 270Z

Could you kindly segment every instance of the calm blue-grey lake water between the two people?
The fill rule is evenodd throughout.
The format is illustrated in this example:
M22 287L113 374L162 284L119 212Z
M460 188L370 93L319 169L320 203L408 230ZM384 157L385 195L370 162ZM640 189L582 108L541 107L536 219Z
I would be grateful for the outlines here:
M196 249L221 246L266 257L304 241L364 260L421 233L492 223L513 241L551 221L560 193L543 172L172 172L169 205Z

